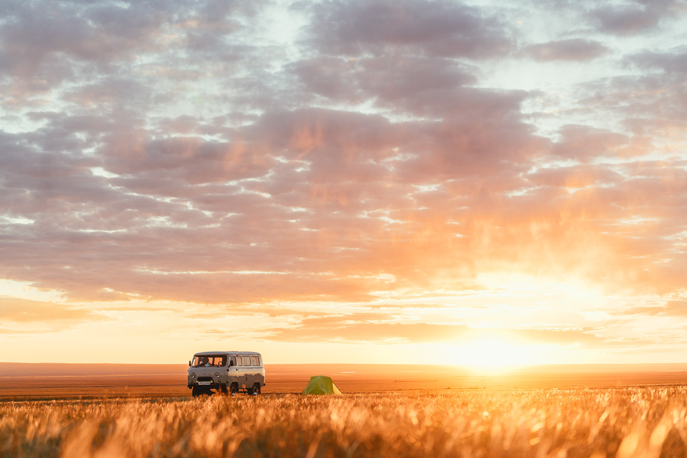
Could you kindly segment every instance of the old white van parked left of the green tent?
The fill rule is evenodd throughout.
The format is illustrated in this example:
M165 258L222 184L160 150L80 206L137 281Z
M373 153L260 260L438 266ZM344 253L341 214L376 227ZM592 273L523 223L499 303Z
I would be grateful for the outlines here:
M264 387L262 356L256 352L201 352L188 362L186 386L192 396L229 393L239 390L258 395Z

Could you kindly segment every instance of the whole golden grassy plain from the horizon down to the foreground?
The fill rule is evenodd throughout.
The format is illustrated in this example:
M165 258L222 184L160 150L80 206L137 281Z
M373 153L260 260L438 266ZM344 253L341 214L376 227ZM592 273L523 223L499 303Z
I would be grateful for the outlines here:
M196 399L187 368L0 363L0 457L687 457L687 365L268 365Z

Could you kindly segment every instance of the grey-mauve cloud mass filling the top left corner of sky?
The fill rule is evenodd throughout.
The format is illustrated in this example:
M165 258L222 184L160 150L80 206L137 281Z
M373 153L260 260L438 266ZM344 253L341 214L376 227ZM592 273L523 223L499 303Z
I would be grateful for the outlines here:
M0 76L5 77L0 87L5 106L36 104L32 102L36 95L81 85L67 100L93 103L95 96L112 100L111 95L98 91L97 81L107 76L128 80L125 86L139 84L130 77L150 73L140 71L140 59L145 55L158 56L157 71L178 70L174 73L177 77L197 77L194 66L199 62L240 57L233 51L241 47L240 40L228 47L224 38L243 30L241 19L254 16L263 4L207 1L189 7L178 1L7 2L0 23ZM192 53L180 60L174 53L181 49ZM88 82L93 82L91 87ZM120 89L117 93L126 95L122 84Z

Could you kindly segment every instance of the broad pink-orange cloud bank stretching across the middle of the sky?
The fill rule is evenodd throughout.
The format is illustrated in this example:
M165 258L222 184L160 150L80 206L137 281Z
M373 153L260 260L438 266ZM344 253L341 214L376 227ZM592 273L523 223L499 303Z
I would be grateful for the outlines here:
M600 233L615 230L604 218L635 205L629 196L649 198L658 188L646 179L626 187L611 166L527 173L548 150L587 161L618 154L629 137L570 126L551 148L517 106L438 122L275 111L235 129L236 141L152 139L142 129L137 141L120 141L108 134L119 121L44 114L30 142L4 137L2 208L34 223L5 227L3 273L71 300L208 304L372 301L372 292L443 281L473 288L475 269L495 265L593 278L611 262L619 285L638 284L633 269L641 266L622 260L630 248ZM91 138L100 154L68 153ZM56 152L41 156L48 148ZM114 176L93 174L96 166ZM590 185L575 196L563 189ZM635 244L632 254L652 243ZM598 257L585 257L583 246L598 247Z

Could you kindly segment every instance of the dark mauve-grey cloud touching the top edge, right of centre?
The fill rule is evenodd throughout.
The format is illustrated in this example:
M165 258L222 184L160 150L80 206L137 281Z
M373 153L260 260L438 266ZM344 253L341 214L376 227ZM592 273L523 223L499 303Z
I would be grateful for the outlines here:
M484 58L513 46L506 26L475 7L449 1L327 1L311 7L304 41L322 54L409 52Z

